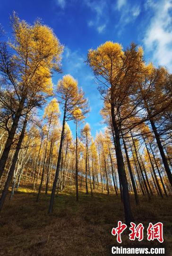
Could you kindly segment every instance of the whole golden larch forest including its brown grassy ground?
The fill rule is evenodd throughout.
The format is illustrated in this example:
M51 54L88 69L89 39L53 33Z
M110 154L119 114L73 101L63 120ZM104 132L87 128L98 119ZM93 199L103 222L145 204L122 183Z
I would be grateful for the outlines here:
M93 137L82 84L62 73L63 42L39 19L10 22L8 41L0 31L0 255L105 255L118 220L165 222L170 243L172 74L133 42L88 49L106 125Z

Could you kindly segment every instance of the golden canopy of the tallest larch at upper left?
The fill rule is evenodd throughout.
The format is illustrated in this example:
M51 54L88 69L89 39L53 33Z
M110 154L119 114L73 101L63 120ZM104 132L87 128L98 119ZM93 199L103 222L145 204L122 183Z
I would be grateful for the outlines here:
M35 92L51 95L51 70L60 71L63 46L52 29L42 25L40 20L29 25L14 12L11 21L14 40L9 42L9 46L15 51L13 64L19 69L17 90L25 89L23 91L32 96Z

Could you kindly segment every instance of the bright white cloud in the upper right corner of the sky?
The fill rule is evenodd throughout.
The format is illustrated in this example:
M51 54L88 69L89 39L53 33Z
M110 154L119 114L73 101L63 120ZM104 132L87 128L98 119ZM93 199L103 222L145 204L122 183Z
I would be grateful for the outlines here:
M147 1L146 9L154 13L144 36L144 45L155 64L172 72L172 0Z

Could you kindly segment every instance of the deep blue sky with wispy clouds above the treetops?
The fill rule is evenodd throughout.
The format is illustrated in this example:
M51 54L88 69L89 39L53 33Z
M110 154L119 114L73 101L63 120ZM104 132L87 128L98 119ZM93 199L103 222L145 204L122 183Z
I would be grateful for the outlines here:
M42 18L65 46L63 74L55 75L53 82L56 85L66 73L78 80L89 99L91 112L86 122L93 136L105 126L99 114L103 102L93 73L84 63L89 48L107 40L124 48L135 42L143 46L147 62L165 65L172 72L172 0L3 0L0 23L9 33L13 10L31 24Z

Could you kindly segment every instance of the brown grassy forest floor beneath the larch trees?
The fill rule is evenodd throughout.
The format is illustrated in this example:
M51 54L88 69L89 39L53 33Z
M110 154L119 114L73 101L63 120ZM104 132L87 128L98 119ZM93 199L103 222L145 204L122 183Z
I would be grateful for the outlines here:
M121 235L122 244L117 244L111 234L118 220L124 222L120 195L97 192L92 198L80 191L77 202L75 191L66 190L55 198L51 215L47 214L50 193L42 193L38 203L36 195L29 187L23 187L12 200L7 198L0 213L0 255L105 256L110 245L131 247L129 231ZM136 245L151 244L146 241L146 229L149 222L159 221L163 222L167 247L172 245L171 197L154 197L151 201L140 197L140 205L136 207L131 196L131 207L135 223L141 222L145 227L145 238L142 242L134 241Z

